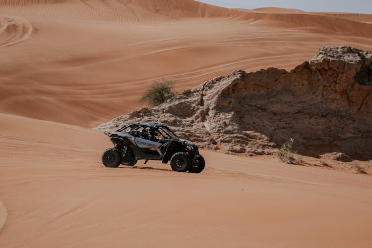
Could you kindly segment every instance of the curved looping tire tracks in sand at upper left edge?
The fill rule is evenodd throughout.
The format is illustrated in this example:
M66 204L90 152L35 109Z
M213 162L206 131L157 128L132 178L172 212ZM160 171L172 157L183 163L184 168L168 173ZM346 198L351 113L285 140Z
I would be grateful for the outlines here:
M0 48L26 40L32 32L32 25L17 16L0 16Z

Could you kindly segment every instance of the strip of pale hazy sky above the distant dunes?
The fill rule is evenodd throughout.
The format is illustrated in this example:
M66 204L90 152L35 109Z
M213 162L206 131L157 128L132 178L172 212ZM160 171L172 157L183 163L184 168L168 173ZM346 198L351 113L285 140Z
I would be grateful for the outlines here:
M282 7L305 11L372 14L372 0L198 0L227 8Z

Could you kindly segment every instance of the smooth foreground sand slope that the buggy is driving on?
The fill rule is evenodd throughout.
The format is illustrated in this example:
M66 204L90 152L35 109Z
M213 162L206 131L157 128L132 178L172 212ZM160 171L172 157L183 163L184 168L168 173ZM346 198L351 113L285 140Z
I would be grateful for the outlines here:
M104 168L109 140L1 115L1 247L369 247L372 178L202 151L201 174ZM22 127L27 126L26 129ZM15 130L19 130L16 133Z

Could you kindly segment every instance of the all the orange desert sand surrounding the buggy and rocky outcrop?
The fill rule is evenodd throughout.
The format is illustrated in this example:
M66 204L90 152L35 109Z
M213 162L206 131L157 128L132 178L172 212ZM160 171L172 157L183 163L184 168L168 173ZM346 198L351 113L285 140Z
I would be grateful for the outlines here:
M151 161L107 169L111 144L89 129L141 107L154 80L181 91L236 69L289 70L323 46L372 50L372 15L192 0L0 6L0 247L372 243L369 175L210 151L199 175Z

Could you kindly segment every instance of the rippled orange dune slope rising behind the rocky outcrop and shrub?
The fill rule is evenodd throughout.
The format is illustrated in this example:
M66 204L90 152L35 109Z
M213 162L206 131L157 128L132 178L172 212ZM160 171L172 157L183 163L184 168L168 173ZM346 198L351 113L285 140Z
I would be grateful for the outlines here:
M0 5L0 112L85 127L140 107L154 80L175 79L181 90L235 69L291 69L327 45L372 50L372 25L363 22L371 15L245 12L191 0Z

